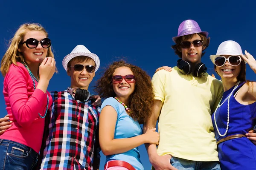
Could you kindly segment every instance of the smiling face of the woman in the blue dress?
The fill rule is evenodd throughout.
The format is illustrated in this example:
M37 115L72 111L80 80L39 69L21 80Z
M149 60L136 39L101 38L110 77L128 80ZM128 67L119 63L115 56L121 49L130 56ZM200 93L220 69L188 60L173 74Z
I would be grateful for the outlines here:
M230 55L221 56L224 56L226 58L230 57ZM218 73L222 80L235 79L235 81L237 81L237 77L239 76L239 73L241 71L241 64L237 66L232 66L228 61L226 61L223 66L216 66L215 71Z

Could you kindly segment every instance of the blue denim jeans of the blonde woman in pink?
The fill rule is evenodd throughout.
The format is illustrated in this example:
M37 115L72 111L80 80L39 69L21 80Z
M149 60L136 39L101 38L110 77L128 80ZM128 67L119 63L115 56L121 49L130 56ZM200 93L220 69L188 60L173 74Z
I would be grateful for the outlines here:
M18 142L0 139L0 170L31 170L38 153Z

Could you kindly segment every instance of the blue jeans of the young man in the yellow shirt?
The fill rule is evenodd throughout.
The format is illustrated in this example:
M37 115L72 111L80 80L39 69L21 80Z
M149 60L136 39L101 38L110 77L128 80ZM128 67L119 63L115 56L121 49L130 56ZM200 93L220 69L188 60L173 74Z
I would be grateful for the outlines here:
M221 170L219 161L190 161L172 157L170 163L178 170Z

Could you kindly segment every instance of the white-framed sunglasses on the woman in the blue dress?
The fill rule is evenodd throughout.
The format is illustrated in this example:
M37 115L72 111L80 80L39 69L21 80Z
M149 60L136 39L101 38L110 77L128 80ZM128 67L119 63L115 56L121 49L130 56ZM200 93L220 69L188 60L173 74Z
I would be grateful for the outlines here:
M218 67L223 66L226 61L228 61L230 63L230 65L232 66L237 66L241 63L241 57L237 56L237 55L232 55L228 58L224 57L224 56L219 56L215 58L215 65Z

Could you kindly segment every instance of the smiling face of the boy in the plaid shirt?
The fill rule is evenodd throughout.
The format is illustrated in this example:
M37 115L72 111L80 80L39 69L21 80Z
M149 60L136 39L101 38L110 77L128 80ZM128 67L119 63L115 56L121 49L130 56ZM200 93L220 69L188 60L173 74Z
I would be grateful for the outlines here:
M93 73L88 73L85 68L82 71L75 71L73 67L76 64L95 66L95 62L93 61L93 59L87 59L84 62L76 62L76 60L74 60L70 64L71 67L67 68L67 75L69 75L71 78L70 87L88 90L89 84L95 76L95 72L93 71Z

